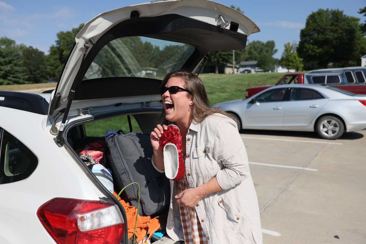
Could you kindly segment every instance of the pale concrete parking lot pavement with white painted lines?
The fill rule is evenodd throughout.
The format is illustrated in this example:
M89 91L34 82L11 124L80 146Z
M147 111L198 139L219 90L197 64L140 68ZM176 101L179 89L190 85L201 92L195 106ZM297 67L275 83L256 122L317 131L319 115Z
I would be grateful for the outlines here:
M309 132L240 133L263 243L366 243L366 130L332 141Z

